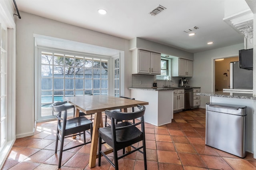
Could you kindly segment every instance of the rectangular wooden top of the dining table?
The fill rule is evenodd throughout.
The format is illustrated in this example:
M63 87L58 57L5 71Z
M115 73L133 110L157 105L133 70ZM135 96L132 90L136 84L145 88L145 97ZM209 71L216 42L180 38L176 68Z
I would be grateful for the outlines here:
M113 97L106 95L86 95L65 97L66 101L74 104L85 114L104 112L105 110L125 109L137 107L137 105L148 105L148 102Z

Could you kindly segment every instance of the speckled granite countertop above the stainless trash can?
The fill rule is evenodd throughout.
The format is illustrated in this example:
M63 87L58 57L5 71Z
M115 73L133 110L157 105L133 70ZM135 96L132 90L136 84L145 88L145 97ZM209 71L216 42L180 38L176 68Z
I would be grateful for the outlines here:
M256 97L254 97L251 93L242 93L242 92L235 92L235 91L230 91L230 92L214 91L214 92L207 92L207 93L196 93L196 95L256 100Z

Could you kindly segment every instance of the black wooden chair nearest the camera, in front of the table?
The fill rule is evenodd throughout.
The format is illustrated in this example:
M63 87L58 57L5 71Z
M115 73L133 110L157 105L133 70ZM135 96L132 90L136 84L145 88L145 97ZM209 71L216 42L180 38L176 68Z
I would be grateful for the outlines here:
M118 170L118 159L127 156L135 151L139 151L144 154L144 168L147 169L147 161L146 161L146 142L145 142L145 127L144 127L144 113L145 113L145 106L139 106L139 111L124 113L119 111L109 111L106 110L105 114L108 115L111 119L111 127L103 127L99 128L99 157L98 157L98 164L100 166L101 156L103 155L108 162L116 170ZM128 120L133 120L140 118L140 122L138 123L131 123ZM115 120L125 120L122 123L115 124ZM141 125L140 129L136 127L137 125ZM114 152L114 163L104 154L101 150L102 140L106 142L113 148ZM135 147L132 144L142 141L142 146ZM134 150L123 154L122 156L117 155L117 151L131 146ZM143 151L140 149L143 148Z

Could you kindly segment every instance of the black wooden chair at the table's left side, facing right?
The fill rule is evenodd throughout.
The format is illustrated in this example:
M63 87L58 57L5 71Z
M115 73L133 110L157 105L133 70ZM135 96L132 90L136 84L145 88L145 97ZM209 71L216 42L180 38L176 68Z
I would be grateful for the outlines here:
M61 159L62 159L62 152L76 148L78 146L82 146L84 144L88 144L91 142L86 142L85 139L85 131L90 129L90 135L92 139L92 121L88 120L86 117L76 117L72 119L67 119L67 110L73 109L74 105L65 105L67 102L54 102L52 104L52 110L54 112L58 112L56 115L58 119L58 124L57 124L57 132L56 132L56 145L55 145L55 154L57 153L57 148L58 148L58 140L60 140L60 155L59 155L59 162L58 162L58 168L61 166ZM63 113L63 118L62 118L62 113ZM83 133L81 133L83 132ZM84 143L79 144L77 146L73 146L71 148L63 149L64 146L64 138L68 138L71 136L76 136L76 133L81 133L84 134Z

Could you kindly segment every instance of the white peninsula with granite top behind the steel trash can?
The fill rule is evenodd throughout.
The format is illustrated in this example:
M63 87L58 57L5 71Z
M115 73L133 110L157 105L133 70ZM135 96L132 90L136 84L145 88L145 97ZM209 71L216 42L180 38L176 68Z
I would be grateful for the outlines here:
M251 93L244 93L240 91L215 91L196 94L200 96L210 96L210 102L212 103L227 103L247 106L246 151L253 153L253 105L256 97Z

